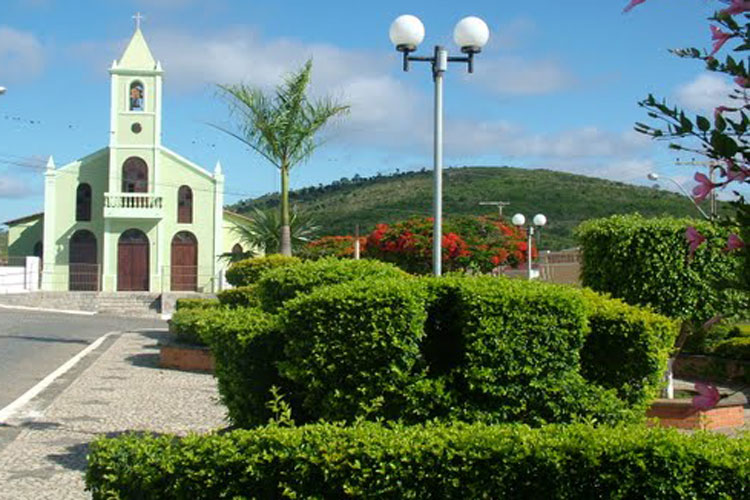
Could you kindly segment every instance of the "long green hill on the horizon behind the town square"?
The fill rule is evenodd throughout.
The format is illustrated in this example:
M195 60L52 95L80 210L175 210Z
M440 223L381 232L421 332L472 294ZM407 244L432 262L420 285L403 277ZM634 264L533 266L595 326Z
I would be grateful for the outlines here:
M576 246L573 228L583 220L613 214L640 212L645 216L697 216L682 195L551 170L511 167L461 167L444 171L443 213L496 214L483 201L507 201L504 215L521 212L528 217L547 216L542 248ZM432 172L404 172L389 176L343 178L327 186L293 191L292 204L312 214L321 235L353 234L359 224L363 234L375 224L395 222L413 215L431 215ZM243 200L231 209L247 213L278 207L278 193Z

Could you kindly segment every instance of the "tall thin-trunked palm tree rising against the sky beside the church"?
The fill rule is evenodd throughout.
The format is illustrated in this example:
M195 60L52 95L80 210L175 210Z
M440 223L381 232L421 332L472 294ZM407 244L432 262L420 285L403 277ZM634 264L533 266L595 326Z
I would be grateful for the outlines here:
M307 97L312 60L288 75L273 95L245 84L219 85L237 119L237 130L219 130L240 140L281 173L281 234L279 251L292 255L289 228L289 172L310 158L320 145L315 134L349 106L331 98L311 101Z

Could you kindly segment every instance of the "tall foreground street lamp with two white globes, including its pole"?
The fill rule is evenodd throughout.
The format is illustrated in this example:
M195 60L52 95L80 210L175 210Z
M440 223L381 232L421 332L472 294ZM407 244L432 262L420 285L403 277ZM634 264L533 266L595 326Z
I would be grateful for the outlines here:
M409 71L412 61L428 62L432 65L432 77L435 82L435 139L434 139L434 183L433 183L433 242L432 270L435 276L442 274L442 240L443 240L443 76L448 70L448 63L466 63L469 73L474 72L474 54L482 51L490 38L487 24L478 17L465 17L456 24L453 38L461 47L465 56L449 56L448 51L439 45L430 57L413 56L412 52L424 40L424 25L418 17L403 15L396 18L390 28L391 42L396 50L404 55L404 71Z

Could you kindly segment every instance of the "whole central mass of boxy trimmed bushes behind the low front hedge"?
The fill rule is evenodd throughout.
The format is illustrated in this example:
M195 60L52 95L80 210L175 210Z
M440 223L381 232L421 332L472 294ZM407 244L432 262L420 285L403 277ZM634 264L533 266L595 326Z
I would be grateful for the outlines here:
M259 286L277 273L297 277L300 267L273 271ZM676 332L666 318L589 293L469 277L318 286L254 318L261 333L243 329L243 316L214 316L221 324L213 329L225 332L212 342L219 388L242 427L267 420L271 385L283 389L297 423L636 418ZM257 373L272 382L258 385Z

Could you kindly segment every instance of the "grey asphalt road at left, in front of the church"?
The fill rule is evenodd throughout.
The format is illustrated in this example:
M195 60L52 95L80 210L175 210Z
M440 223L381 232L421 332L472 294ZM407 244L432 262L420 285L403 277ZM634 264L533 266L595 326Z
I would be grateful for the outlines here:
M164 327L157 319L0 309L0 409L105 333Z

